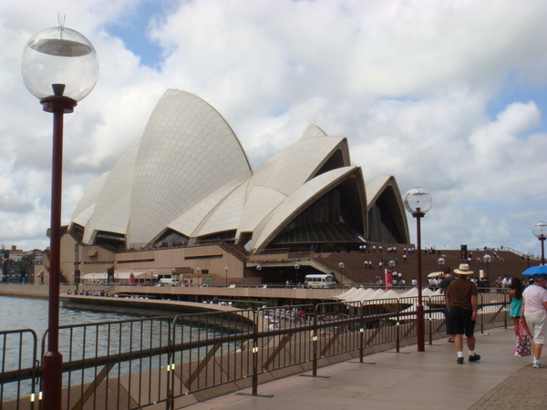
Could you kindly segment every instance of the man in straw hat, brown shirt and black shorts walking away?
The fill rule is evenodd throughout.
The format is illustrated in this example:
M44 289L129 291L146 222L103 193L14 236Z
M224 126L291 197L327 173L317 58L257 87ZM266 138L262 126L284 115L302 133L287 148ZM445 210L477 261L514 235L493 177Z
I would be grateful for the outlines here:
M477 322L477 309L479 306L479 292L477 285L468 281L473 271L470 265L461 263L454 270L458 279L450 282L446 292L447 308L449 309L449 321L452 323L452 332L455 334L456 351L458 352L458 364L463 364L463 335L470 351L469 361L479 362L480 355L475 353L475 323Z

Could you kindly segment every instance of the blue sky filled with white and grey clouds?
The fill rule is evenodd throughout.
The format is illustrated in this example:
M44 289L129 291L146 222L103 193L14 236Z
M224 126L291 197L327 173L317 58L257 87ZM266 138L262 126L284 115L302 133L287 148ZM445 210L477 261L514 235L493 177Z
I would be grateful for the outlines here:
M46 248L52 117L20 75L57 13L96 47L66 116L63 223L139 138L167 88L230 123L257 169L310 123L365 179L427 189L422 244L540 253L547 220L547 2L20 0L0 3L0 243ZM409 218L415 241L415 221Z

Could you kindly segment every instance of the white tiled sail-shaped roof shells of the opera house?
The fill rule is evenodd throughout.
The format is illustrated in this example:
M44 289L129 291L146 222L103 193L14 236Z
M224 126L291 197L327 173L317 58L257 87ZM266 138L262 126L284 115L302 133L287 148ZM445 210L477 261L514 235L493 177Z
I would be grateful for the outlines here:
M263 248L346 178L359 181L352 200L366 210L365 184L360 168L351 167L346 138L314 125L253 175L222 116L200 97L169 89L142 138L88 189L72 221L85 226L86 243L94 243L98 231L111 231L125 235L129 247L157 241L170 229L189 238L237 231L239 240L252 233L245 245Z

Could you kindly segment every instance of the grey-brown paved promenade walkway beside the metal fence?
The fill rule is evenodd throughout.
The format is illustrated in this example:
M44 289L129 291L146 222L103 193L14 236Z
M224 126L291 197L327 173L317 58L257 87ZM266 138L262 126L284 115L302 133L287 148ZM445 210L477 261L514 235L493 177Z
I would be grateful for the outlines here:
M514 357L512 329L477 334L478 363L456 363L447 339L321 368L321 377L291 376L258 387L258 397L235 393L191 405L202 409L544 409L547 368ZM547 352L543 362L547 363ZM308 373L310 374L310 373ZM251 389L242 393L251 393Z

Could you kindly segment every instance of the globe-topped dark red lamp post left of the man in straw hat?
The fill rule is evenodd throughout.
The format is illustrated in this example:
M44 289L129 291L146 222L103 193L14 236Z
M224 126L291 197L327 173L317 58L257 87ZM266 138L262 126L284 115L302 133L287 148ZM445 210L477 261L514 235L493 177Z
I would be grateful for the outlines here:
M418 331L418 352L425 352L424 343L424 306L422 304L422 272L421 272L421 227L420 220L433 205L431 195L421 187L412 188L405 194L405 208L416 218L416 247L418 250L418 306L416 307L416 321Z

